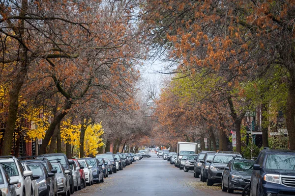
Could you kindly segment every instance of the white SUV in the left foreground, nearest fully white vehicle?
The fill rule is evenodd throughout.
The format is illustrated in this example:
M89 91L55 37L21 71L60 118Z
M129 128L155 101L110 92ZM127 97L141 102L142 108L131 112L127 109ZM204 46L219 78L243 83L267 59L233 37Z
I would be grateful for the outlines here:
M32 190L30 175L33 172L26 171L20 161L14 156L0 156L0 163L10 179L18 179L19 183L14 185L16 195L30 196Z

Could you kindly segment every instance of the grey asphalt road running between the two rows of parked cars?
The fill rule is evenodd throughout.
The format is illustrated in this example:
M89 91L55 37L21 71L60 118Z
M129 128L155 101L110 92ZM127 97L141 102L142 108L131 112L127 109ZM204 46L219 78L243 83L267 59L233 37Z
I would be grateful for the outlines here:
M167 160L157 158L155 153L150 154L151 158L136 161L123 171L109 175L104 183L94 184L74 195L230 196L222 192L220 186L208 189L199 178L193 177L192 171L183 172Z

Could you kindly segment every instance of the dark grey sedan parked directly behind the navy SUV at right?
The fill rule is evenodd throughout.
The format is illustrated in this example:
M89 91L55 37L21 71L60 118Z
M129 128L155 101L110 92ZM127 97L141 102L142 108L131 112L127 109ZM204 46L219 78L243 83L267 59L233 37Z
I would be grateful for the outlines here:
M242 191L250 183L253 165L254 160L236 158L231 160L222 173L222 191L229 193L234 193L234 190Z

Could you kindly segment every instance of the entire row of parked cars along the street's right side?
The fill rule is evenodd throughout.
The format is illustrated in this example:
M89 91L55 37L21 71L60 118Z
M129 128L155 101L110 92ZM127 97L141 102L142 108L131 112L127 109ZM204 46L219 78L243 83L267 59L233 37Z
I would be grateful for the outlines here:
M166 158L167 157L167 158ZM177 153L163 159L184 172L193 171L207 186L221 184L221 190L243 196L295 196L295 151L263 149L256 160L231 151L201 151L184 154L177 164Z

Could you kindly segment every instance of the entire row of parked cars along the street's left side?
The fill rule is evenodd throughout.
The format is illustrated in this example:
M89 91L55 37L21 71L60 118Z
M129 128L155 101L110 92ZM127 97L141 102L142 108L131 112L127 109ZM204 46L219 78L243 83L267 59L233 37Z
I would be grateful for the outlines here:
M111 152L79 159L63 153L0 156L0 196L70 196L140 159L140 154Z

